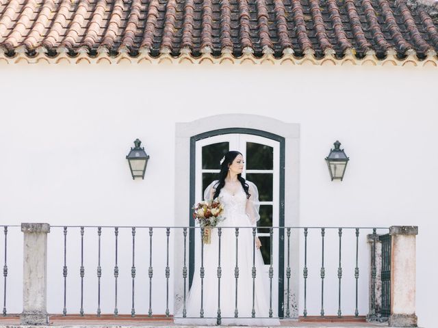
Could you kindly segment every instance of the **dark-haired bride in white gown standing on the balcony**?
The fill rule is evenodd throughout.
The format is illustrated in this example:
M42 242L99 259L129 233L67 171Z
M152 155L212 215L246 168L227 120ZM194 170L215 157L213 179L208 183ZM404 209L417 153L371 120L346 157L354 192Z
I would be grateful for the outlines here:
M180 309L175 314L177 324L280 325L273 312L270 317L261 243L253 236L252 227L260 218L258 191L255 184L242 178L243 169L242 154L227 152L221 161L219 180L205 189L205 200L218 197L224 205L225 219L218 224L223 227L220 238L218 229L213 229L211 243L203 245L203 277L201 254L196 255L192 288L185 303L186 316L181 318ZM196 232L199 235L199 230Z

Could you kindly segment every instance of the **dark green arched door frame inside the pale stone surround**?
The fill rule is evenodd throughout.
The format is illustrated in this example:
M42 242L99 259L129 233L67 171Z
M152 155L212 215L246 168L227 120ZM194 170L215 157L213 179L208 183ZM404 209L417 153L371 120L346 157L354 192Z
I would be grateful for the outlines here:
M188 217L190 227L194 227L194 219L192 217L192 205L194 204L195 191L195 159L196 159L196 141L214 137L216 135L245 134L258 135L267 139L279 141L280 143L280 199L279 199L279 226L284 227L285 224L285 138L274 133L256 130L253 128L221 128L219 130L208 131L190 137L190 203L188 206ZM279 229L279 317L283 318L284 304L284 229ZM189 286L192 286L194 275L194 229L189 232Z

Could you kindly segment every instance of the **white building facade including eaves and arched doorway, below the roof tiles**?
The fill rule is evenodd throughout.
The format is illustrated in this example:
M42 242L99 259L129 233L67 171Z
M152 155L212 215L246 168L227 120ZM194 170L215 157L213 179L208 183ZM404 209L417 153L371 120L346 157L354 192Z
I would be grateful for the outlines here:
M7 25L7 10L3 5L0 27ZM318 20L318 15L312 17ZM171 21L165 16L164 25ZM248 165L256 152L251 149L264 147L272 155L270 167L247 167L246 175L248 180L251 175L253 180L263 176L260 181L268 186L262 206L271 226L292 228L289 256L286 230L275 228L272 236L268 230L260 232L267 243L272 237L276 314L285 315L289 301L290 316L302 316L304 310L319 316L323 300L326 315L337 315L338 228L344 228L340 308L344 315L358 310L366 316L370 311L366 234L372 234L372 228L386 234L391 226L417 226L413 310L420 327L433 327L435 293L430 291L438 290L433 279L437 264L430 255L436 248L438 213L438 59L433 37L429 49L422 53L407 49L403 56L387 49L382 57L372 47L363 51L363 57L348 49L339 57L335 47L313 52L302 48L297 55L284 44L282 57L276 57L276 51L257 53L248 47L237 55L223 49L218 55L208 45L200 53L181 50L177 55L166 47L155 54L153 46L151 50L143 45L136 56L126 51L112 55L103 48L90 55L77 46L70 56L66 44L55 46L56 55L44 47L31 53L21 44L25 38L14 44L17 28L9 27L0 48L0 221L8 226L8 313L23 310L23 233L18 226L38 222L51 225L49 313L64 310L64 281L67 313L95 313L98 297L101 313L114 312L114 227L120 227L118 313L131 314L136 308L137 314L147 314L150 296L154 314L174 313L183 301L184 251L189 271L193 262L181 227L191 224L190 207L201 199L203 178L211 180L218 172L222 156L217 167L207 165L203 149L221 144L223 149L240 150ZM337 40L342 44L341 39ZM150 156L144 180L131 178L125 158L136 138ZM342 182L331 181L324 161L336 140L350 158ZM65 235L64 226L68 226ZM81 226L89 227L82 244ZM107 227L101 238L98 227ZM134 251L131 227L137 227ZM160 227L154 228L152 239L150 227ZM172 228L166 236L167 227L180 228ZM368 230L361 230L357 262L355 228L361 227ZM304 228L309 228L306 287ZM324 264L320 228L326 228ZM68 267L68 274L63 275L63 267ZM171 268L169 277L166 267Z

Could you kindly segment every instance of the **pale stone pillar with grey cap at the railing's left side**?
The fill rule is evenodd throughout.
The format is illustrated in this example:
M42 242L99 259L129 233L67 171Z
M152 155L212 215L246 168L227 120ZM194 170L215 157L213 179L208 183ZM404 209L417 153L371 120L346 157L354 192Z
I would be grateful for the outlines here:
M23 313L21 325L47 325L48 223L21 223L23 249Z

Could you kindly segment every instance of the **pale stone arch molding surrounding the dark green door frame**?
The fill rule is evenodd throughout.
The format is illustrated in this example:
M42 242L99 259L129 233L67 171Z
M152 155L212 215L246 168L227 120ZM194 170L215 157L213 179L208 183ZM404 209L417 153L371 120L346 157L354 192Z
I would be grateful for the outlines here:
M299 226L299 143L300 124L287 123L268 116L230 113L212 115L192 122L177 122L175 126L175 226L188 226L188 212L190 201L190 142L191 138L221 129L248 128L279 135L285 139L285 226ZM298 241L298 238L292 238ZM183 236L175 236L175 270L182 272L183 264ZM291 261L298 263L298 242L291 245L295 249L291 254ZM296 280L296 281L295 281ZM291 316L298 316L298 279L292 282ZM174 309L181 307L183 295L182 279L174 281ZM286 302L286 300L285 300ZM295 309L295 310L294 310ZM296 313L294 313L296 312Z

